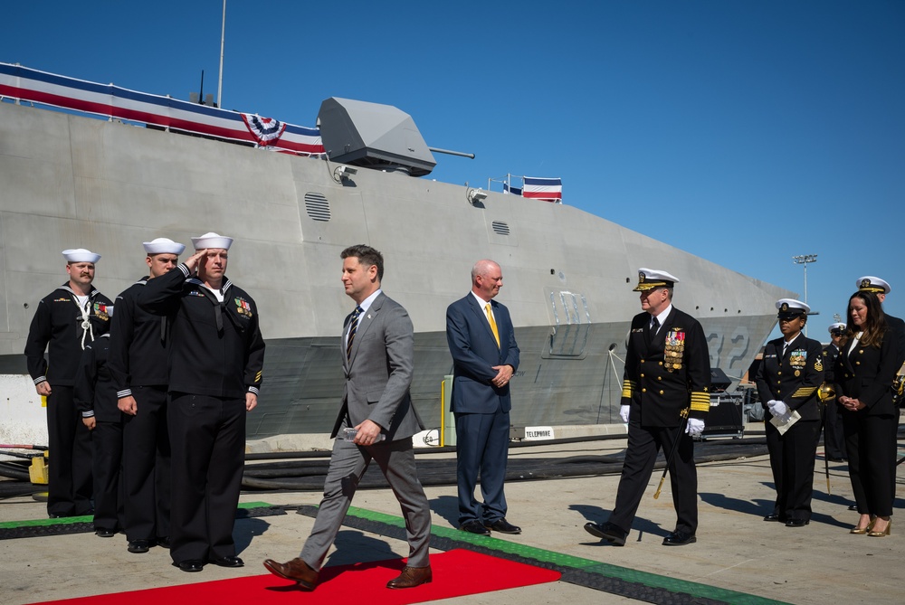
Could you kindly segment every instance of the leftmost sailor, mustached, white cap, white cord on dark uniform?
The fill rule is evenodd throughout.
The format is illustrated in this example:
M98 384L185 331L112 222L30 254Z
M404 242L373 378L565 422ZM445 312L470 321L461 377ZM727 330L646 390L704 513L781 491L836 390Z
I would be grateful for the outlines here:
M110 329L113 303L96 288L100 254L84 248L62 251L69 281L42 298L25 343L34 389L47 397L51 463L47 514L91 514L91 436L75 408L73 386L85 345ZM47 359L44 350L47 349Z

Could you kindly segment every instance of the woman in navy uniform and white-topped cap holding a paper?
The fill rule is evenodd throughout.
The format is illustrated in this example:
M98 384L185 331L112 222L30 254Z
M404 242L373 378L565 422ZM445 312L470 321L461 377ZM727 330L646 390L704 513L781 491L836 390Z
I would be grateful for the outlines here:
M776 502L764 521L803 527L811 521L814 455L820 431L817 389L824 382L824 359L820 343L802 334L811 307L794 298L781 298L776 308L783 336L764 347L764 359L755 376L760 402L770 412L764 420L776 486ZM788 414L799 418L780 432L773 419Z

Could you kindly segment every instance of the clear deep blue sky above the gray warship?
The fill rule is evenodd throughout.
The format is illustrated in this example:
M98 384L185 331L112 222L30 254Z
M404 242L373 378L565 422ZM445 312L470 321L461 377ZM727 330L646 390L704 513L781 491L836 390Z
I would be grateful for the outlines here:
M222 7L6 3L0 61L181 99L204 70L215 95ZM905 317L905 2L227 1L224 108L314 126L333 96L477 156L429 178L558 176L564 203L799 293L791 257L817 254L809 336L862 275Z

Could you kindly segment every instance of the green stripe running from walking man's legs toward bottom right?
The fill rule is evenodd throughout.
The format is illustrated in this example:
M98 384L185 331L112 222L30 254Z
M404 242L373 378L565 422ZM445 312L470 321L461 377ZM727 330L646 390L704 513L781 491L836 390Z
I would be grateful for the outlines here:
M405 519L400 516L377 513L376 511L358 508L357 506L349 506L348 515L357 516L362 519L367 519L368 521L392 525L394 527L405 528ZM449 538L456 542L474 544L475 546L482 546L500 553L519 555L538 562L547 562L582 572L595 573L609 578L618 578L619 580L631 581L653 588L684 592L695 597L722 600L735 605L787 605L784 601L780 600L765 599L763 597L758 597L757 595L730 591L708 584L701 584L696 581L679 580L677 578L669 578L656 573L640 572L628 567L611 565L610 563L584 559L563 553L555 553L534 546L515 544L508 540L500 540L491 536L469 534L458 529L452 529L451 527L437 527L436 525L433 525L431 532L434 535Z

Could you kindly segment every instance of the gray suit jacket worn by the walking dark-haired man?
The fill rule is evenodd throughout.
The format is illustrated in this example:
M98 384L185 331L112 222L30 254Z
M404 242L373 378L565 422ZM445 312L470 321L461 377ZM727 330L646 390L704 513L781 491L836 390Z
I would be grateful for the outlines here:
M349 314L343 323L343 334L351 317ZM349 427L366 420L376 422L387 441L424 430L409 395L414 373L414 328L405 308L381 292L358 318L349 359L345 346L340 344L339 351L346 383L331 437L337 436L347 419Z

